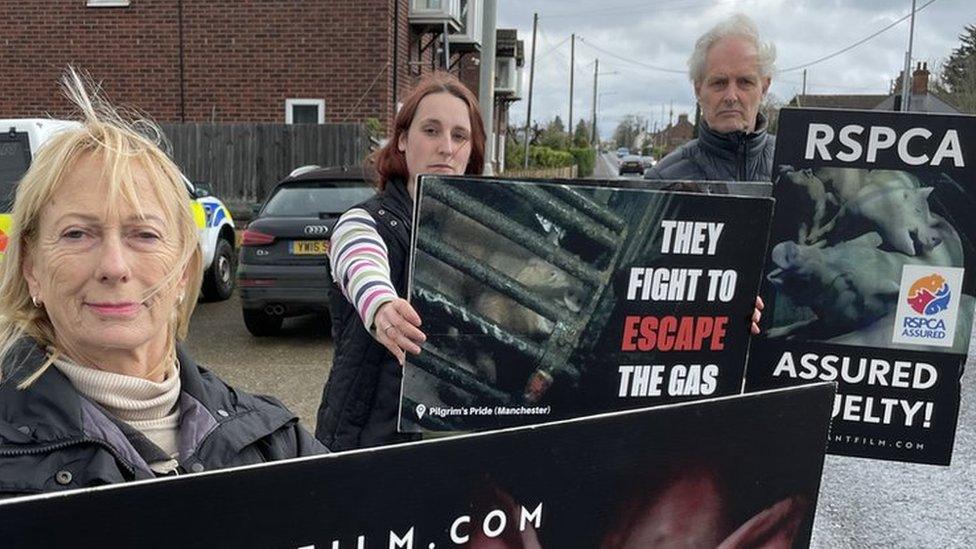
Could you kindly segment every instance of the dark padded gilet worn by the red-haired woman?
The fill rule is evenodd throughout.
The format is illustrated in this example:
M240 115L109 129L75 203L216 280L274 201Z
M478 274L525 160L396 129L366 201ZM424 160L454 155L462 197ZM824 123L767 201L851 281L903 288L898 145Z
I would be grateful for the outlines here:
M397 295L407 295L410 221L413 200L403 181L390 181L382 193L356 206L376 221L386 243L390 276ZM397 433L400 381L396 358L363 325L355 307L335 284L329 288L335 355L322 391L315 437L333 451L414 440Z

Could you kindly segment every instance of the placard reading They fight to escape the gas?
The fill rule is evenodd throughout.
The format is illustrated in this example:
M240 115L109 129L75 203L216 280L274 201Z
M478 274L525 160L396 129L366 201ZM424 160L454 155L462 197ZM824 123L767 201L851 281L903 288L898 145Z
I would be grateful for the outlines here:
M773 202L759 187L422 178L410 299L427 342L400 430L739 393Z

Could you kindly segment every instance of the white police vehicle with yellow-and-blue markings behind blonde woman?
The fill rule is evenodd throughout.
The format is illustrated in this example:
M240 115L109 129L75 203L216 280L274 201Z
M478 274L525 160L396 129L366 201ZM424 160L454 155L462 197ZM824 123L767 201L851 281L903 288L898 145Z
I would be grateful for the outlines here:
M17 182L30 167L31 159L52 135L78 122L41 118L0 120L0 257L7 249L10 233L10 208ZM196 186L183 178L193 218L200 229L203 251L203 296L212 301L230 297L234 290L234 220L224 204L210 196L205 186Z

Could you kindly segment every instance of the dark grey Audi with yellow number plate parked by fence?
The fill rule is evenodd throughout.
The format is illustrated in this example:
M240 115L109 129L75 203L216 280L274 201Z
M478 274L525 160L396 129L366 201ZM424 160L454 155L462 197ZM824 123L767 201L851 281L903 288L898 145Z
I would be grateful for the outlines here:
M275 335L285 318L328 318L329 237L342 212L376 192L362 168L296 169L268 195L241 240L244 325Z

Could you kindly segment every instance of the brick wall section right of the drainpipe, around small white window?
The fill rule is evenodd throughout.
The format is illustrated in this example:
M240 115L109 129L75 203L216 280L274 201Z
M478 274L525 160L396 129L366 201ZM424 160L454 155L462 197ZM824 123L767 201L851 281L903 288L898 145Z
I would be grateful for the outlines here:
M327 122L380 116L389 5L185 1L186 118L283 122L288 98L324 99Z

